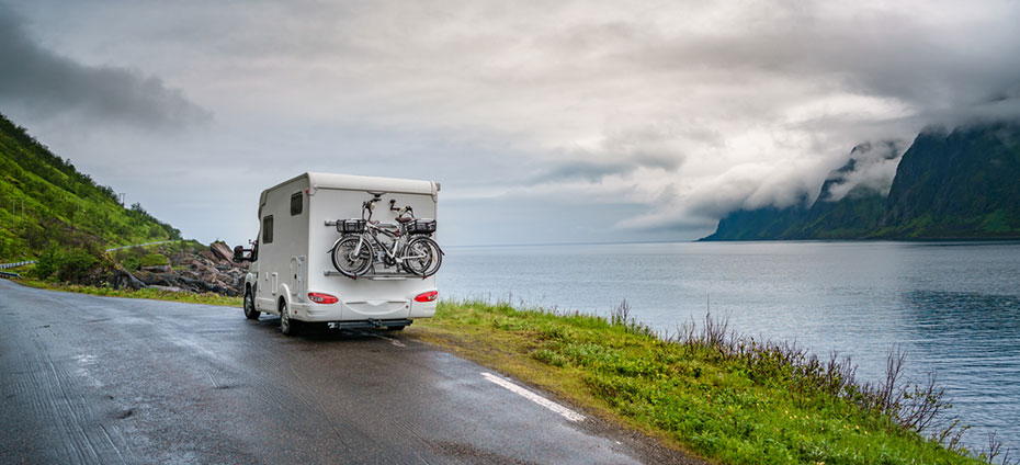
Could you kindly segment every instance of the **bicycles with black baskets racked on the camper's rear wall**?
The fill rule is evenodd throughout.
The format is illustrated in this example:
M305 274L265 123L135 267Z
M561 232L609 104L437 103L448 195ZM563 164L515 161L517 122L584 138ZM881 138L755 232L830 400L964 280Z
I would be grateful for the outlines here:
M435 220L416 218L409 205L397 208L397 201L390 200L389 209L398 212L397 224L381 224L372 214L385 193L370 194L372 200L361 204L361 219L337 220L341 237L329 250L333 268L351 279L367 274L375 263L399 265L422 279L435 274L443 262L442 249L429 237L435 232Z

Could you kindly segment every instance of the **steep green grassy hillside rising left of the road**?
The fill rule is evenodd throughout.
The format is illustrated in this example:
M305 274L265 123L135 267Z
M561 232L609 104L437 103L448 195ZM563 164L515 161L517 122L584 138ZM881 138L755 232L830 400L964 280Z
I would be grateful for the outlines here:
M141 205L122 206L112 188L0 114L0 263L38 258L50 246L97 249L180 236Z

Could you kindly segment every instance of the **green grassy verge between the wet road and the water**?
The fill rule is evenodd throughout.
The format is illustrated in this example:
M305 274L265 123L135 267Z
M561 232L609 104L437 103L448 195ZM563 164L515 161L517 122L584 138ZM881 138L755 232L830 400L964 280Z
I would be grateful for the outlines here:
M798 382L783 361L666 342L633 324L505 304L442 302L410 334L713 461L979 463Z

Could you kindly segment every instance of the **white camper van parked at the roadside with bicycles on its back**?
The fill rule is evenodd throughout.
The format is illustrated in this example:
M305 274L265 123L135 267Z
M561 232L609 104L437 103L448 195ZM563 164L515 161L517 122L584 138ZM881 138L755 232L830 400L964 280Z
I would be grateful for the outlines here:
M416 318L431 317L438 297L434 272L442 259L434 241L439 190L432 181L316 172L267 189L259 197L258 238L251 249L235 249L236 261L250 261L245 316L280 315L281 331L288 336L311 324L400 330ZM372 231L385 236L375 247L369 243ZM437 252L427 258L431 263L400 262L408 243L421 249L426 241ZM338 250L341 243L348 250ZM370 264L344 273L338 259Z

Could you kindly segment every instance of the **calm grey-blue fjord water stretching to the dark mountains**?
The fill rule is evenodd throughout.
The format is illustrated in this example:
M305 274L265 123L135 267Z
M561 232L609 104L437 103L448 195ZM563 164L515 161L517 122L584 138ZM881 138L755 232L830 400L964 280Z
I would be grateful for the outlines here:
M439 280L446 298L603 316L626 299L673 333L711 305L741 333L850 355L871 382L899 344L907 376L933 372L973 427L968 446L996 431L1020 447L1020 242L450 247Z

